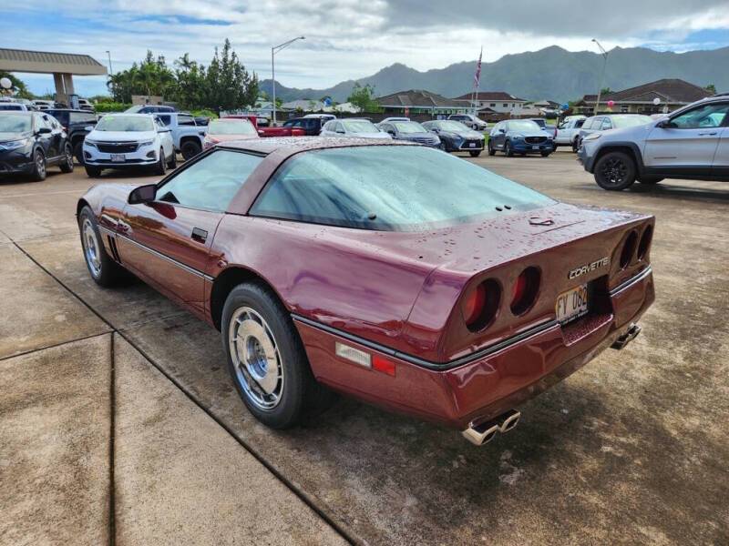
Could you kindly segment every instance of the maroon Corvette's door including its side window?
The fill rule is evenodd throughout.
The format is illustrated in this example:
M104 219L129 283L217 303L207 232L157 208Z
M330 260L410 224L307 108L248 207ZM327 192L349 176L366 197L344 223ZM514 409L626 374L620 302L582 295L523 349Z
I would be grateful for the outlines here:
M127 205L118 222L121 262L198 313L217 264L210 245L231 199L262 157L216 150L156 188L153 201Z

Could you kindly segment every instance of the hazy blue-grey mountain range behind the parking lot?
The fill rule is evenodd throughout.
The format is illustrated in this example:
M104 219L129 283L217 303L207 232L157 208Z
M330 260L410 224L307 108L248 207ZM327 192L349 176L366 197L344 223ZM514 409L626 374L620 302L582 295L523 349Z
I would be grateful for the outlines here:
M603 87L613 91L639 86L661 78L681 78L697 86L714 84L717 91L729 91L729 47L673 53L645 47L615 47L609 52ZM566 102L597 93L602 57L589 51L567 51L552 45L539 51L502 56L481 67L482 91L507 91L529 100ZM344 102L355 82L375 87L375 96L407 89L426 89L438 95L455 97L473 90L476 61L465 61L420 72L399 63L386 66L373 76L347 80L324 89L298 89L276 82L276 96L284 102L299 98L331 96ZM271 95L272 80L263 80L261 89Z

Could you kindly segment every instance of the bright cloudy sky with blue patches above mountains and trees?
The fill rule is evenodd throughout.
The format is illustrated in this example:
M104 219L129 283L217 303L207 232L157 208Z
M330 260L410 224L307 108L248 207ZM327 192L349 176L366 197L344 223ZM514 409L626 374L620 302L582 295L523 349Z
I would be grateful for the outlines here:
M148 49L171 61L189 52L208 63L229 37L246 66L271 76L271 46L304 41L276 56L284 86L332 86L399 62L418 70L484 60L548 45L570 51L642 45L676 52L729 45L727 0L490 2L461 0L23 0L0 7L0 47L85 53L115 71ZM489 7L494 5L494 8ZM600 7L596 7L600 5ZM31 90L51 76L24 76ZM77 92L105 90L104 78L78 77Z

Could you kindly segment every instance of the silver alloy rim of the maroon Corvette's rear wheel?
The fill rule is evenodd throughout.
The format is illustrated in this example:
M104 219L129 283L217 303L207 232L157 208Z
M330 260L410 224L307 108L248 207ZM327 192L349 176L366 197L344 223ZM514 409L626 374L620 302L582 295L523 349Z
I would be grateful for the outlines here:
M241 307L228 331L236 380L249 401L272 410L281 401L284 376L281 353L268 323L254 309Z

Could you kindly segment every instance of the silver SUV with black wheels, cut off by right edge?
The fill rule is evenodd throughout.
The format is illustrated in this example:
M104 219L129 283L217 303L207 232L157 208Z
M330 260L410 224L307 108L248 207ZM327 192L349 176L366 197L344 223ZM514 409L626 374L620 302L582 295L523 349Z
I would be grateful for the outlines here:
M729 181L729 96L704 98L645 125L587 135L578 157L603 189L663 178Z

